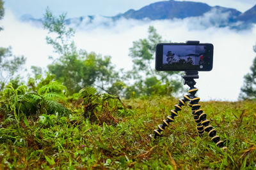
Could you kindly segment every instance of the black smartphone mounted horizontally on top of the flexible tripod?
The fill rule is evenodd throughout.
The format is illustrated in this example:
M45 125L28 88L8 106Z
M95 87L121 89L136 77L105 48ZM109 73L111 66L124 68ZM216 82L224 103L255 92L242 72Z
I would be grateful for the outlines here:
M157 71L211 71L212 61L210 43L159 43L156 46Z

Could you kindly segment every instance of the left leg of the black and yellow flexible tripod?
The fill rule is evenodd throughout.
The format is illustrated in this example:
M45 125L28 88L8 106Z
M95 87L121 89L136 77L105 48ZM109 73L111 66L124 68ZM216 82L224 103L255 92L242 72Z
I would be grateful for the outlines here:
M181 107L186 104L187 101L189 101L189 97L185 95L183 99L179 100L179 104L174 105L174 110L171 110L171 115L169 115L165 120L163 120L163 124L158 125L158 129L154 130L154 134L150 134L150 138L156 138L157 136L161 136L161 132L164 131L168 125L170 125L171 122L174 121L174 117L178 115L178 111L181 110Z

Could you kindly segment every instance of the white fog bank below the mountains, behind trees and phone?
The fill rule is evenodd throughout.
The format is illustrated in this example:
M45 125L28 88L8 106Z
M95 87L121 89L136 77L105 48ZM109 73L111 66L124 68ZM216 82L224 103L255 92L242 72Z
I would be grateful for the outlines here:
M125 70L132 67L131 57L128 56L132 41L147 38L149 25L153 25L163 39L168 41L198 40L201 43L212 43L213 69L210 72L199 73L200 78L196 80L198 96L204 101L236 101L243 85L243 76L250 71L256 55L252 48L256 41L256 28L254 26L245 31L218 28L218 20L225 22L227 15L211 11L204 17L184 20L137 21L123 18L117 22L97 17L92 24L81 24L77 27L74 40L78 48L83 48L87 52L111 55L116 69ZM14 55L27 57L28 69L31 66L46 67L51 63L48 57L54 53L52 47L46 44L47 31L42 27L20 22L10 10L6 10L0 25L4 27L4 31L0 32L0 46L12 46Z

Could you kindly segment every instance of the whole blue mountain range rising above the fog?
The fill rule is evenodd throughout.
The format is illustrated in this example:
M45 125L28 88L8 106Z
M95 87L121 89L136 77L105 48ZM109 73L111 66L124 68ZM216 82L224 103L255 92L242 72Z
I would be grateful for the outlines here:
M231 29L250 29L256 24L256 5L248 11L241 13L233 8L222 6L209 6L205 3L190 1L159 1L144 6L140 10L128 10L113 17L85 16L68 18L66 23L72 27L83 29L94 29L104 26L112 27L118 20L133 19L143 20L180 20L186 19L191 25L198 25L199 28L207 27L229 27ZM187 19L188 18L188 19ZM22 21L31 22L34 25L42 26L43 18L35 19L31 15L22 16Z

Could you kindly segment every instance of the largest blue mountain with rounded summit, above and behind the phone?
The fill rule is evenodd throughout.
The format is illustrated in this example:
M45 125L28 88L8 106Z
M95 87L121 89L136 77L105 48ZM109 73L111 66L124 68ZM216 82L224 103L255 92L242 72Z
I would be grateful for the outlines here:
M223 13L230 13L231 18L241 14L232 8L223 8L221 6L211 7L205 3L195 3L189 1L161 1L149 4L140 10L129 10L123 14L116 15L115 18L133 18L141 20L148 18L150 20L164 20L173 18L200 17L213 9L221 10Z

